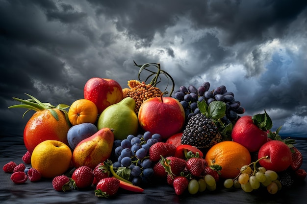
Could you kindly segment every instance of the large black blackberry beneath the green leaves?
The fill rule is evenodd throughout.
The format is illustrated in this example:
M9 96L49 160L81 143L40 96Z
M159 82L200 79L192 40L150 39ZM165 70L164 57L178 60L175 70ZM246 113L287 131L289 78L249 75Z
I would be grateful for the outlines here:
M181 137L181 144L197 148L210 148L222 141L222 136L212 119L202 113L191 117Z

